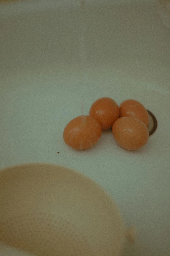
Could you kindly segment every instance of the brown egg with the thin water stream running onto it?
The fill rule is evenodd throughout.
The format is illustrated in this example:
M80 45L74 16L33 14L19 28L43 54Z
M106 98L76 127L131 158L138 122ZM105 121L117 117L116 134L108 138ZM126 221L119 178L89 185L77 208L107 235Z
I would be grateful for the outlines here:
M95 145L101 136L100 123L91 116L78 116L64 128L64 142L74 149L87 149Z

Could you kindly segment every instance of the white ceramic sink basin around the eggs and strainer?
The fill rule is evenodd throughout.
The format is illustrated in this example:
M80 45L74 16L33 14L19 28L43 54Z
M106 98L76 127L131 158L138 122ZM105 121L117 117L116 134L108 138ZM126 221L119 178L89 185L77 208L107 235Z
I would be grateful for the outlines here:
M79 170L114 197L127 227L136 225L124 255L168 256L170 30L152 1L87 8L82 89L77 2L0 6L0 168L47 162ZM81 114L82 97L88 114L102 96L139 100L156 116L146 146L126 151L110 131L86 151L64 144L63 129Z

